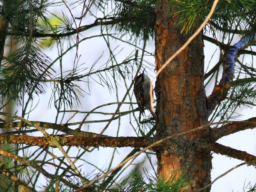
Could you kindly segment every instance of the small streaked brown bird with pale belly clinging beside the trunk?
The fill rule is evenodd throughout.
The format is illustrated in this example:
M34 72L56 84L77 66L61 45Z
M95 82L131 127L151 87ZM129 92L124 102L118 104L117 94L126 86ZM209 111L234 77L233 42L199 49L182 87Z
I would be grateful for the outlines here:
M144 108L148 109L153 115L154 119L158 122L156 114L151 109L150 104L150 78L143 72L138 75L134 82L133 92L137 100L137 104L142 115L145 115ZM151 85L152 86L152 85ZM152 89L153 92L153 89Z

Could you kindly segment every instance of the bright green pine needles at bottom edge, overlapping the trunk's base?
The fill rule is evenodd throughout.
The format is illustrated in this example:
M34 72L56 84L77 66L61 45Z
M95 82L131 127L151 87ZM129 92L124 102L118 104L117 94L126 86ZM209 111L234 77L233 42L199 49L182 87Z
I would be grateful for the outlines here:
M144 174L145 176L143 176L141 172L132 171L119 184L116 184L116 187L110 188L109 190L176 192L189 184L185 175L181 176L179 179L173 176L166 182L163 178L149 174L147 170L144 170Z

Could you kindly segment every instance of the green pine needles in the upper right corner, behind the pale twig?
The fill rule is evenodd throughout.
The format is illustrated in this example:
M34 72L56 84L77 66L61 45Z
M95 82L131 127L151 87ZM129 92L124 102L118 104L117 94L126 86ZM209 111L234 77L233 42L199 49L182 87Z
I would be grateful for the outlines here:
M170 1L178 5L174 16L181 14L176 25L182 25L185 33L195 30L198 20L203 21L210 12L213 1L187 0ZM224 36L229 33L250 35L256 32L256 2L254 0L219 1L216 10L210 18L210 24ZM209 24L208 24L209 26Z

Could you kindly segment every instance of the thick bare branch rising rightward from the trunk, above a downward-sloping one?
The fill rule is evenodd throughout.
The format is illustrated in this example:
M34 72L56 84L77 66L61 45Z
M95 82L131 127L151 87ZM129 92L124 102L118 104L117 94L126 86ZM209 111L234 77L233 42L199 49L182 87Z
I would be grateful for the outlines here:
M236 133L238 131L253 129L256 127L256 117L250 118L244 121L237 121L234 123L228 123L221 127L214 127L211 129L211 138L213 141L217 141L219 138Z

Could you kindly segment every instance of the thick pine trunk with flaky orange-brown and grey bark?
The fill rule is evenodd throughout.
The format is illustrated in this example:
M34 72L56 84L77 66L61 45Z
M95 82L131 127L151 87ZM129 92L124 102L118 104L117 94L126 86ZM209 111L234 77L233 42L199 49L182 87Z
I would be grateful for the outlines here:
M155 55L156 69L174 54L188 39L174 28L179 16L169 1L156 3ZM157 78L156 98L159 124L157 136L166 137L207 124L206 96L204 90L204 51L202 34L180 53ZM168 180L172 176L186 174L189 191L210 183L211 155L200 150L201 138L209 128L167 141L156 151L158 175ZM208 188L210 190L210 188Z

